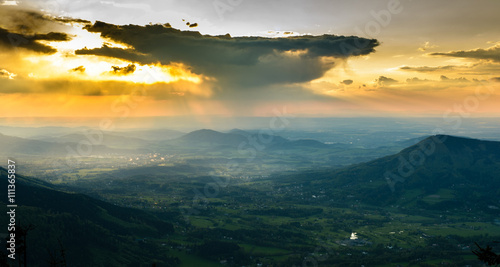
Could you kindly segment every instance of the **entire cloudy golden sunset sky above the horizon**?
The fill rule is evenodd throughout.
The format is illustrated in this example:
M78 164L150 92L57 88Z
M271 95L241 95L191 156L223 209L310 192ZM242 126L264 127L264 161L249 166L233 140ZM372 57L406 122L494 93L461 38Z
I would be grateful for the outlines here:
M2 118L500 116L500 1L0 3Z

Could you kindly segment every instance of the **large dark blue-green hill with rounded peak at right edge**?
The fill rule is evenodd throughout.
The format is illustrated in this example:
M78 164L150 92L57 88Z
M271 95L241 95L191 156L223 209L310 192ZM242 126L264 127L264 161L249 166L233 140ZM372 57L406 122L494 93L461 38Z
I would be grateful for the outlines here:
M446 209L499 205L500 142L428 137L401 152L338 170L282 177L365 204Z

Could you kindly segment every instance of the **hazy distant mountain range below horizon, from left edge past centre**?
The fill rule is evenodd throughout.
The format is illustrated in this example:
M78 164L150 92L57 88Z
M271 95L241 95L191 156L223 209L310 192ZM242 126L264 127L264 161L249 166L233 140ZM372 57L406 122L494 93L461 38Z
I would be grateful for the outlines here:
M144 138L138 138L139 136ZM175 147L180 150L204 148L212 150L231 149L234 151L245 147L254 147L260 151L294 148L328 149L348 146L342 144L326 145L311 139L288 140L277 135L251 133L242 130L222 133L208 129L187 134L170 130L154 130L98 132L97 135L85 130L60 136L38 136L36 138L25 139L0 133L2 153L6 155L65 155L68 145L75 149L82 141L96 143L92 146L93 154L148 153L161 146Z

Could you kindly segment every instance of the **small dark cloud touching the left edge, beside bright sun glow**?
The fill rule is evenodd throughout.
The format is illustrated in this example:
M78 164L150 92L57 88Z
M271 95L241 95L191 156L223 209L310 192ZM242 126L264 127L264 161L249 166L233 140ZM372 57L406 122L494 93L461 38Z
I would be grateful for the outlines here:
M67 41L69 36L65 33L50 32L47 34L34 34L25 35L15 32L10 32L4 28L0 28L0 47L4 49L15 49L22 47L28 50L32 50L44 54L53 54L57 52L56 49L41 44L38 41Z

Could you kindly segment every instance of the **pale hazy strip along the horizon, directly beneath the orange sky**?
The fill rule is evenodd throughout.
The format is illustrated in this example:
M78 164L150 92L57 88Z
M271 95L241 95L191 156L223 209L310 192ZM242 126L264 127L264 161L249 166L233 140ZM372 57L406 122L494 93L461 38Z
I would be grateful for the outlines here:
M486 130L500 133L500 118L497 117L303 117L294 114L277 113L269 117L133 117L133 118L0 118L0 127L13 128L94 128L102 131L131 131L169 129L194 131L212 129L228 131L232 129L259 130L270 128L280 118L286 124L279 125L283 130L322 130L328 128L367 129L392 127L405 130L408 126L421 128L441 128L443 134L454 134L464 130ZM325 123L330 124L325 124ZM281 127L283 126L283 127ZM388 128L386 128L388 130ZM0 128L0 133L2 129Z

